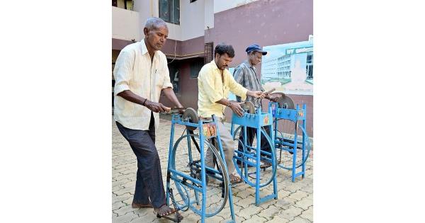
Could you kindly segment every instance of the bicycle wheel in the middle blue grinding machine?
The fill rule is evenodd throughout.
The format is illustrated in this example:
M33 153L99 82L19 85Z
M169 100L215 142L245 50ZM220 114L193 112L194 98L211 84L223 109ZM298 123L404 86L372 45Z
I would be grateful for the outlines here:
M234 130L234 134L233 134L233 140L234 142L237 142L238 147L243 148L243 153L238 151L238 148L235 148L234 151L236 153L235 156L240 157L240 159L244 160L244 161L248 161L248 162L244 162L246 163L246 168L245 166L238 166L237 161L238 158L237 157L233 157L233 164L237 170L237 173L239 173L239 175L242 177L242 179L248 183L251 186L255 186L256 185L256 149L251 149L249 147L246 147L246 145L244 144L244 142L242 142L239 139L239 134L242 132L242 125L239 125L239 127L236 128L236 130ZM261 137L262 139L266 139L266 142L268 144L268 147L271 148L271 151L263 151L261 150L261 154L260 154L260 161L261 163L264 164L272 164L270 167L268 168L263 168L263 171L260 171L260 183L259 183L259 187L262 188L266 185L268 185L269 183L271 183L273 181L273 178L276 176L276 151L273 147L271 138L268 136L268 134L266 133L266 131L263 129L263 127L261 127ZM249 143L249 142L248 142ZM248 144L248 146L254 147L256 148L256 137L254 137L253 143L252 145Z

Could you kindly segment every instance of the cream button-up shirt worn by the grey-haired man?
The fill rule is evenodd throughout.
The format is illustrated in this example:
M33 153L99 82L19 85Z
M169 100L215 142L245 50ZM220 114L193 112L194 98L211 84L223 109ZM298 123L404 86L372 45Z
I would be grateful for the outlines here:
M132 130L149 130L151 110L143 105L132 103L117 96L130 90L132 93L158 102L163 88L173 88L164 53L157 50L153 61L147 52L145 40L132 43L118 55L113 70L114 118L121 125ZM154 113L155 128L159 124L159 114Z

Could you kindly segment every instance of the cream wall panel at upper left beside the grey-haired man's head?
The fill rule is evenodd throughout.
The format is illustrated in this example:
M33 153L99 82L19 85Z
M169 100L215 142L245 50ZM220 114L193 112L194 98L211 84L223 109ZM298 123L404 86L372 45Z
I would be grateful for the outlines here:
M139 13L112 6L112 38L140 40Z

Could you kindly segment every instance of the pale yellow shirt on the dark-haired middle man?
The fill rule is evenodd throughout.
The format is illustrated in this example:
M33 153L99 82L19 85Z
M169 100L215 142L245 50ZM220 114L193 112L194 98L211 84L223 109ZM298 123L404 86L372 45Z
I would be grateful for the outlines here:
M211 115L223 118L225 105L215 103L222 98L229 97L229 91L237 96L246 98L246 88L234 81L229 70L223 71L224 84L222 83L221 70L218 69L214 60L205 64L200 69L198 76L198 115L202 118L210 118Z

